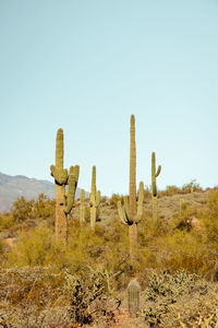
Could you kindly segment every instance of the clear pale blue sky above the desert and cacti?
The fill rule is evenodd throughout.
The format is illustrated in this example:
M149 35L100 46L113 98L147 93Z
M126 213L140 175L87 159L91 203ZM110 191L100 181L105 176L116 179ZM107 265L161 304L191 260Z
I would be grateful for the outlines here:
M65 167L102 194L137 183L218 185L217 0L0 0L0 172L49 179L58 128Z

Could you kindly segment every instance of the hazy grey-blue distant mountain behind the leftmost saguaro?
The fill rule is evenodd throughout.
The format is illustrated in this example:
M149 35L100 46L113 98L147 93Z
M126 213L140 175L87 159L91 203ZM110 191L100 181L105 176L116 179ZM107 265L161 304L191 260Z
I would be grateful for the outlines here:
M0 212L10 210L11 204L17 197L25 197L27 200L37 198L44 192L49 198L55 198L55 184L48 180L38 180L23 175L7 175L0 173ZM81 189L76 189L75 198L80 198ZM88 192L86 192L88 197Z

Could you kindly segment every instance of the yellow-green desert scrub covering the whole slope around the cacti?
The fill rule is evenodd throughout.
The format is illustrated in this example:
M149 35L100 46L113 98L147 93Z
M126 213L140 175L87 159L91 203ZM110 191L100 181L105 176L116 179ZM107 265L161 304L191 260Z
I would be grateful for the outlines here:
M100 203L95 232L89 215L80 224L75 204L66 247L56 242L55 201L44 195L0 215L1 327L217 327L217 188L191 190L182 202L161 196L157 222L145 197L134 267L114 199L122 197ZM142 288L136 318L125 313L133 274Z

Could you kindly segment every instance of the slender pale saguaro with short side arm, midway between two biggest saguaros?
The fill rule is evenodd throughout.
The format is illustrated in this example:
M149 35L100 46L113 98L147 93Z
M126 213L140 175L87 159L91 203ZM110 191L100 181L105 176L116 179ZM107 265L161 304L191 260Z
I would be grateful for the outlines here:
M98 207L100 203L100 191L96 191L96 166L92 172L92 190L90 190L90 227L95 230L96 219L98 215Z

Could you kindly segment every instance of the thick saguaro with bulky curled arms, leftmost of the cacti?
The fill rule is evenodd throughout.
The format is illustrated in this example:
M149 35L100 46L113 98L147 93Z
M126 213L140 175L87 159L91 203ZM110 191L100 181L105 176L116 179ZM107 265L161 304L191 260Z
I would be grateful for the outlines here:
M59 129L56 139L56 165L50 166L51 176L56 181L56 239L68 242L68 214L73 208L78 180L78 165L71 166L68 173L63 168L63 130ZM65 186L69 189L65 192Z

